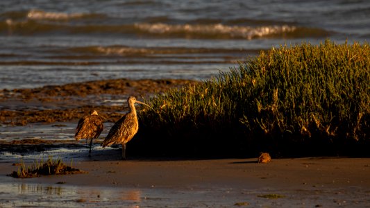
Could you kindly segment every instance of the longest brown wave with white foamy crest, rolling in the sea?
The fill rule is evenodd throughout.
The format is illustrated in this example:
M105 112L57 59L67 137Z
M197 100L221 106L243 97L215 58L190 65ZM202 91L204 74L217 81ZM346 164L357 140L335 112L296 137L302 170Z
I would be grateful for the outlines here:
M39 18L63 19L78 18L81 14L67 15L64 13L42 13L31 15L33 19L16 21L5 19L0 21L0 33L8 35L37 35L43 33L58 34L100 34L100 35L137 35L140 37L186 38L186 39L246 39L256 38L296 38L324 37L328 31L320 28L305 28L299 26L229 26L225 24L163 24L137 23L122 25L102 24L69 24L69 22L53 23L38 21Z

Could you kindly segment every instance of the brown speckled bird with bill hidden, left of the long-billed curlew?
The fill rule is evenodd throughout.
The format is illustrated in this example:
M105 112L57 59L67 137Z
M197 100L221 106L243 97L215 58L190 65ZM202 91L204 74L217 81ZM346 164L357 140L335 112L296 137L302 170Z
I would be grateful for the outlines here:
M83 118L78 121L74 138L76 141L80 139L86 139L86 143L87 139L91 139L89 157L91 157L92 139L98 138L103 131L103 128L103 119L98 115L96 110L92 111L92 113L88 116L83 116Z

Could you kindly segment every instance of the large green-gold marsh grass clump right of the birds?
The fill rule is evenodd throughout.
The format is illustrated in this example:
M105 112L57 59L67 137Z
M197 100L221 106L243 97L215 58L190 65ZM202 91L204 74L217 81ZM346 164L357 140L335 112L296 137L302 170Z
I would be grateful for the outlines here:
M280 46L146 102L140 133L164 153L345 151L369 144L370 47Z

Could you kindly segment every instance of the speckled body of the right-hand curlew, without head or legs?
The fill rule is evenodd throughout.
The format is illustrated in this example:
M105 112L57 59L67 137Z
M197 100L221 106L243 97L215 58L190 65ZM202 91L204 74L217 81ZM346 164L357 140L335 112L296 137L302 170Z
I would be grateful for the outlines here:
M106 139L101 146L110 146L112 144L125 144L130 141L139 130L139 123L133 112L122 116L110 129Z

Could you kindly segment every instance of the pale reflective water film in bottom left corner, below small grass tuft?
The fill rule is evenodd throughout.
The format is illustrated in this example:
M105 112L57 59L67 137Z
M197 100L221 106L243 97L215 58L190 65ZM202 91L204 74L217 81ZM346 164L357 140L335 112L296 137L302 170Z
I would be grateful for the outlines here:
M66 184L0 184L0 207L138 207L142 191Z

